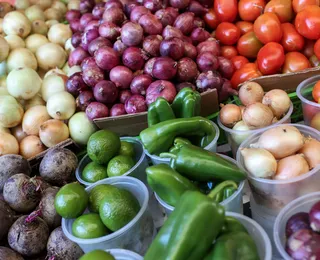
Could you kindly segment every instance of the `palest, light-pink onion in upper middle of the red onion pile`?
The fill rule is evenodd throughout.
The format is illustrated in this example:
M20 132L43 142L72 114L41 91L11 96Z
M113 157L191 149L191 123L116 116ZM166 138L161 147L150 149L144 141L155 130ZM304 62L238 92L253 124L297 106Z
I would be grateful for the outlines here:
M127 46L137 46L143 38L143 29L140 24L128 22L121 28L121 40Z

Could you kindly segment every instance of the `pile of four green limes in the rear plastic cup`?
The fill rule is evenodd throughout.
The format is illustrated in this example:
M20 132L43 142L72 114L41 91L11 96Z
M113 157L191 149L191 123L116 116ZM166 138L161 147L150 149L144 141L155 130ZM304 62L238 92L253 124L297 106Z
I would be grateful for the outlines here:
M136 163L134 145L120 141L119 136L109 130L100 130L90 136L87 153L92 162L83 169L82 179L90 183L121 176Z

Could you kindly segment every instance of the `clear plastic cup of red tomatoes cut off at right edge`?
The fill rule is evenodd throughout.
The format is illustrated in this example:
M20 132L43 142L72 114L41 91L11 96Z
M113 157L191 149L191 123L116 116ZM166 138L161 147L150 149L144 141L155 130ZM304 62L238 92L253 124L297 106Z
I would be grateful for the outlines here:
M302 81L297 87L306 125L320 130L320 75Z

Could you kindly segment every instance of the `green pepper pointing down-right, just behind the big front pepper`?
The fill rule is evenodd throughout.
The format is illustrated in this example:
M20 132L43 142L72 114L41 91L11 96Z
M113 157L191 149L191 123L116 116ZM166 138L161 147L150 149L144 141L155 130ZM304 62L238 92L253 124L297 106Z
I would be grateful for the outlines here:
M158 164L146 169L147 181L151 189L171 206L176 206L187 190L198 190L187 178L167 164Z

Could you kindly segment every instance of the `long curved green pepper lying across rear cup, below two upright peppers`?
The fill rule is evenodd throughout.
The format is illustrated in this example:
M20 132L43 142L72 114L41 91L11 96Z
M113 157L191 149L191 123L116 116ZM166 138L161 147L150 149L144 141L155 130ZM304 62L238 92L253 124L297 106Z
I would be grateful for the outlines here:
M201 146L207 146L215 137L215 129L209 119L204 117L176 118L167 120L140 133L140 139L150 154L166 152L177 136L201 137Z

